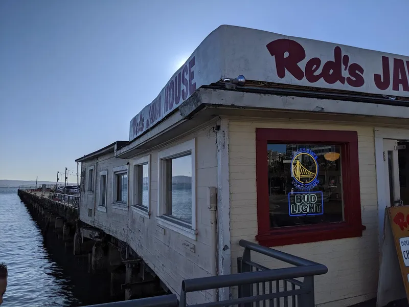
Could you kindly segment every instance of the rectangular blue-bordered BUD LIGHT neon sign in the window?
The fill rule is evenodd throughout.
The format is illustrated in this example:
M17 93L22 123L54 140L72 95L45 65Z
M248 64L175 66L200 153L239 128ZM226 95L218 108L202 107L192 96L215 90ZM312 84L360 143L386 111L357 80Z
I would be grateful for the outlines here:
M288 193L288 212L290 216L324 214L323 192Z

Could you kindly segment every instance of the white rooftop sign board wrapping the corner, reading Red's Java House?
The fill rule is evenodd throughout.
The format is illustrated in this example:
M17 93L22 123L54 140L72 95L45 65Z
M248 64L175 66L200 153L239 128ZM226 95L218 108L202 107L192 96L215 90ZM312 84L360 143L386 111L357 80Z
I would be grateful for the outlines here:
M129 139L161 121L202 85L246 80L409 97L409 57L220 26L130 122ZM216 103L216 102L215 102Z

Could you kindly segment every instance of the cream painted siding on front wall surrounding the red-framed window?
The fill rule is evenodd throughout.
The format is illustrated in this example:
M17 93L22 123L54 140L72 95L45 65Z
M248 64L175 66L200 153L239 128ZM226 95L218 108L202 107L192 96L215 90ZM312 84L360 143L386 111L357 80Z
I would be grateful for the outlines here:
M240 239L255 241L257 235L256 128L303 128L353 130L358 133L362 237L276 247L276 249L320 262L328 273L315 278L315 302L347 306L376 296L378 280L378 229L374 133L370 126L332 123L294 123L290 120L230 120L229 168L231 192L232 273L237 272ZM266 267L285 264L254 257Z

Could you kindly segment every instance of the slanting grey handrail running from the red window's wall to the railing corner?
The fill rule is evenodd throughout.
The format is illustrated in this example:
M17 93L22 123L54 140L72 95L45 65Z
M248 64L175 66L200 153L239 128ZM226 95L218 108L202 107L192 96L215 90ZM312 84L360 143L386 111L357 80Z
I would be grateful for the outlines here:
M243 240L243 239L241 239L239 241L239 245L241 247L248 248L249 250L258 252L260 254L263 254L263 255L266 255L266 256L269 256L269 257L272 257L272 258L276 258L276 259L281 260L283 262L287 262L288 264L291 264L291 265L294 265L294 266L317 266L318 265L318 266L325 267L324 265L321 265L321 264L319 264L317 262L307 260L307 259L304 259L304 258L300 258L300 257L294 256L294 255L291 255L291 254L284 253L284 252L280 252L278 250L271 249L271 248L268 248L268 247L264 247L264 246L261 246L261 245L258 245L258 244L252 243L252 242L248 242L248 241ZM327 269L327 271L324 272L324 273L321 273L321 274L325 274L325 273L328 272L328 268L327 267L325 267L325 268Z

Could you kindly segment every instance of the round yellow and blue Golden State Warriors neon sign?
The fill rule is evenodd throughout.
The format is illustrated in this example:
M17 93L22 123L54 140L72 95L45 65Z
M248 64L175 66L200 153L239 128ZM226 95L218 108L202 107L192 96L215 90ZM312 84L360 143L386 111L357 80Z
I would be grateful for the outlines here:
M293 153L291 160L292 184L298 190L311 190L316 187L320 181L318 177L317 155L306 148L300 148Z

